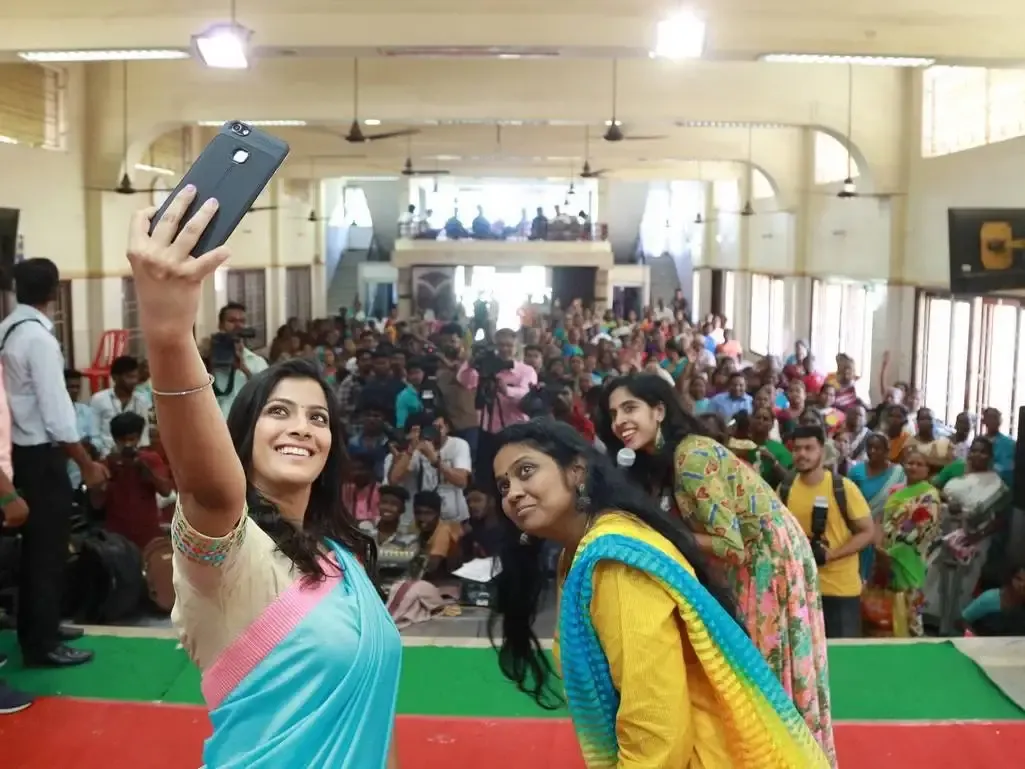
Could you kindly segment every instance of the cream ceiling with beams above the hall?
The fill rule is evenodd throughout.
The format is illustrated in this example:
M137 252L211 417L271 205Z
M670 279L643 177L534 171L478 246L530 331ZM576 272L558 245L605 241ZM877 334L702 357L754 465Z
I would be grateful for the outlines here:
M747 129L676 123L847 133L847 68L770 65L756 62L761 54L922 55L1002 66L1025 58L1017 36L1008 34L1025 24L1021 0L708 0L688 6L708 23L705 60L647 58L657 22L679 7L675 0L238 0L238 21L253 30L262 52L254 68L225 73L188 60L132 64L129 133L146 147L198 121L304 120L312 127L285 130L293 171L313 163L323 169L318 175L383 172L412 154L463 173L546 176L582 162L587 125L594 166L623 175L681 169L714 175L747 160ZM228 0L0 1L0 56L26 49L188 48L192 34L227 21L229 8ZM481 55L489 48L545 55ZM395 55L410 49L436 55ZM330 135L343 133L354 117L354 55L361 58L359 117L382 121L365 130L421 128L412 144L352 146ZM626 133L666 138L600 139L612 112L613 56L620 59L617 117ZM904 106L914 92L911 76L856 69L853 144L885 178L898 166L910 124ZM90 109L108 116L104 151L118 154L120 67L89 65L86 75ZM490 125L428 125L434 121ZM500 145L496 121L508 124ZM797 128L751 133L751 159L771 177L799 166Z

